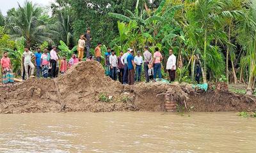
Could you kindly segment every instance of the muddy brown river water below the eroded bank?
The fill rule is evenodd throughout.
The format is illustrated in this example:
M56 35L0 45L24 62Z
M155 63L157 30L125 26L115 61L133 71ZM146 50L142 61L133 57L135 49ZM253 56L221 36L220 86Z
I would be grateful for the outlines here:
M256 152L256 119L237 113L0 115L0 152Z

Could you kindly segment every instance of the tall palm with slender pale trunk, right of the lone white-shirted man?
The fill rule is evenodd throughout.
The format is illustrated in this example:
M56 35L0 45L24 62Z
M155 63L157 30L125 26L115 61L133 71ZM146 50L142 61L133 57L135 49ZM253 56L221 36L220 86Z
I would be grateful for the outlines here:
M227 0L230 1L230 0ZM204 83L207 83L207 56L209 57L209 50L212 48L211 43L213 40L219 43L226 41L225 37L218 36L223 34L220 29L223 25L225 17L233 17L234 14L238 14L237 11L227 11L223 8L227 8L227 1L220 0L196 0L194 6L188 11L188 22L194 25L195 29L198 29L198 35L202 36L204 45L202 50L203 60L204 60L204 73L203 79ZM216 33L216 32L220 33ZM214 39L213 39L214 38ZM220 39L219 39L220 38Z

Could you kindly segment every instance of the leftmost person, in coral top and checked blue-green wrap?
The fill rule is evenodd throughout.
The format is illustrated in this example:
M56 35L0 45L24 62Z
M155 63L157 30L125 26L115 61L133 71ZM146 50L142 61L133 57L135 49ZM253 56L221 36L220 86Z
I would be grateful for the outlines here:
M13 84L12 64L7 52L4 52L0 63L3 84Z

